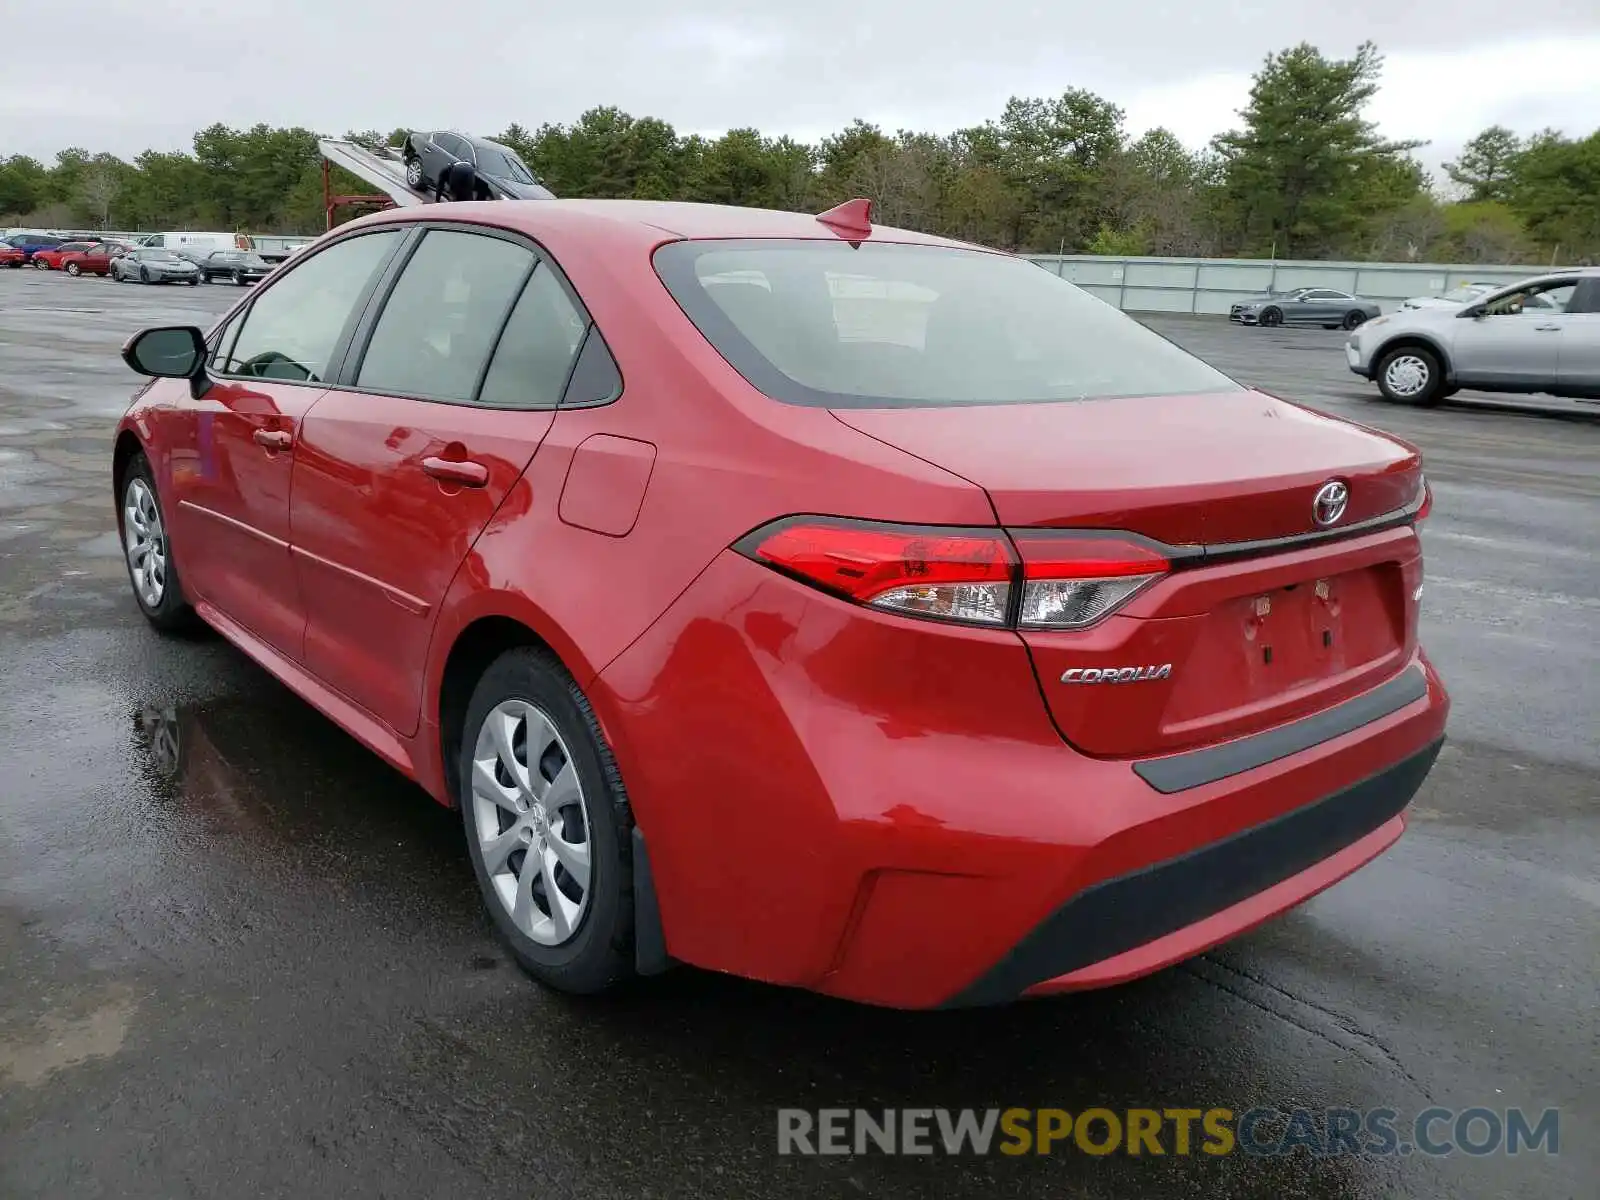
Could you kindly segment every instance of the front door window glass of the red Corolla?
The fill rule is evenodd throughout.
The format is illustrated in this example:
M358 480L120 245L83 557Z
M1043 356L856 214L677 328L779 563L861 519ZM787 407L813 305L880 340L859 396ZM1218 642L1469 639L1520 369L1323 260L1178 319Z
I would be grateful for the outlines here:
M398 238L394 229L363 234L288 267L250 306L224 373L325 381L357 301Z

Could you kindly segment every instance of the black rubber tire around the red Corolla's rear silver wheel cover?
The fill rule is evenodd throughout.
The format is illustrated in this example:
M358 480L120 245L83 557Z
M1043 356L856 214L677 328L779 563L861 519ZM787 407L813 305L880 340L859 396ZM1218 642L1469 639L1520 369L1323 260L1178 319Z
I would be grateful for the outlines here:
M509 699L536 706L554 725L571 757L589 818L590 875L587 907L578 928L558 946L533 941L515 926L490 882L478 843L472 795L472 757L485 718ZM589 699L562 664L544 650L507 650L483 672L467 706L461 746L461 824L478 893L494 931L512 958L534 979L563 992L602 992L634 974L634 818L611 747ZM526 864L523 858L523 864Z

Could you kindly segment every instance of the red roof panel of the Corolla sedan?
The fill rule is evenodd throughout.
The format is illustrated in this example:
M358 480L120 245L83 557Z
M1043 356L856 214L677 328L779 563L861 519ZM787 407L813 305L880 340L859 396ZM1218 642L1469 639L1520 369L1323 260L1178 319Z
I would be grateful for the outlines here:
M454 202L445 208L437 205L392 208L358 218L350 226L406 224L411 221L467 221L515 230L538 240L614 242L645 248L680 238L814 238L827 242L840 237L811 213L683 200L475 200ZM1002 253L954 238L877 224L861 240ZM552 250L555 250L554 245Z

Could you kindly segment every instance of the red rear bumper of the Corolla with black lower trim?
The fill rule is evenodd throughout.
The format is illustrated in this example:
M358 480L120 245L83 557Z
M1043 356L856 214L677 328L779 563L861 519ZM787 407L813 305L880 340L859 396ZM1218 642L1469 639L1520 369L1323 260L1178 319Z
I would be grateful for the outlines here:
M731 552L590 694L667 954L901 1008L1117 982L1304 901L1398 837L1450 709L1414 654L1221 758L1091 758L1014 635Z

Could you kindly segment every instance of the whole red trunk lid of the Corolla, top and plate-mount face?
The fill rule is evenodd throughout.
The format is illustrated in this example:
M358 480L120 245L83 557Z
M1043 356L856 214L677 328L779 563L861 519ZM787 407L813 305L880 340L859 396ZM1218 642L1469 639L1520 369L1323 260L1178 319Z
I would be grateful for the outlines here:
M835 416L982 486L1005 526L1190 547L1099 624L1022 634L1058 726L1086 752L1165 754L1293 720L1414 648L1411 528L1293 541L1323 531L1314 498L1333 480L1349 486L1334 530L1414 501L1421 459L1382 434L1253 390Z

